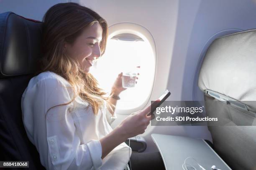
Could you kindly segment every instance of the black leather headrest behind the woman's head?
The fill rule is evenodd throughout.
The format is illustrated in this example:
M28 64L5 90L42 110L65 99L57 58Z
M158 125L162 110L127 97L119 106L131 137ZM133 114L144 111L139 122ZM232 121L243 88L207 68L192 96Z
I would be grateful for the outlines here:
M12 12L0 15L0 78L35 72L41 35L40 21Z

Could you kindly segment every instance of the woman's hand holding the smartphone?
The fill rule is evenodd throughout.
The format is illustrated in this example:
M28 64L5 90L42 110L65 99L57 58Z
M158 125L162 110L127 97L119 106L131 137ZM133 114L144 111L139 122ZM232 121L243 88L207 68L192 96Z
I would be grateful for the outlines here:
M151 115L147 116L149 112L151 112L151 105L126 117L118 128L120 128L120 131L122 131L126 138L144 133L151 120Z

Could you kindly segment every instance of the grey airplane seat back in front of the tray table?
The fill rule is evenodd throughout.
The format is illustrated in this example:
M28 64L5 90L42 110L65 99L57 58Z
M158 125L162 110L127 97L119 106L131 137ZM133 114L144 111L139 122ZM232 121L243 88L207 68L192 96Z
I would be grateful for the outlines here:
M206 116L219 117L208 124L214 150L233 170L256 170L256 30L214 40L198 86Z

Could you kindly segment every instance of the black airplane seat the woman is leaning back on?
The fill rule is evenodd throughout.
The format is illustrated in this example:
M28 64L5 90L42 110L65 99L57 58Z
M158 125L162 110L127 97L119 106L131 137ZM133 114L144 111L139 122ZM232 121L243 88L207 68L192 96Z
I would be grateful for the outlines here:
M29 161L36 170L45 168L26 135L20 102L36 72L41 32L40 21L0 14L0 160Z

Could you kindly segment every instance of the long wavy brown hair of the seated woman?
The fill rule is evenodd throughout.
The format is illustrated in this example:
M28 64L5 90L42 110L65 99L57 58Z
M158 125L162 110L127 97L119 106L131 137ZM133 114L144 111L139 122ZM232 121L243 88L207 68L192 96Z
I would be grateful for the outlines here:
M70 102L79 95L92 106L94 114L97 114L99 107L104 105L103 100L108 99L104 97L106 92L98 87L98 82L92 74L84 73L77 60L67 57L64 51L64 41L72 44L84 28L95 22L98 22L103 30L100 43L103 55L108 37L108 24L100 15L74 2L59 3L49 8L43 18L43 57L38 62L40 69L36 74L51 71L64 77L72 85L75 94ZM111 105L108 101L107 103Z

